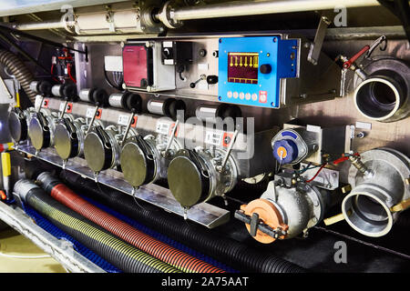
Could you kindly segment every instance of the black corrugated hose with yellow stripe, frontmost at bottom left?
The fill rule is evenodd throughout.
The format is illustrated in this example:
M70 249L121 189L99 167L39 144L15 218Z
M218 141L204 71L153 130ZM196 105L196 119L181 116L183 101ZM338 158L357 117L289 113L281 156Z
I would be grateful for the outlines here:
M98 256L128 273L181 273L177 268L141 252L108 234L94 223L61 205L46 192L23 179L15 183L15 193L53 224L73 236Z

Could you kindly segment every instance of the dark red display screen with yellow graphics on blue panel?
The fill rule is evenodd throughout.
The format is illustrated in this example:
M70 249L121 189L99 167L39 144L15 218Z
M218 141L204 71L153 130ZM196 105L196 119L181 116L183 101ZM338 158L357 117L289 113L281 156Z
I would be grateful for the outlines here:
M258 53L228 53L228 82L258 84Z

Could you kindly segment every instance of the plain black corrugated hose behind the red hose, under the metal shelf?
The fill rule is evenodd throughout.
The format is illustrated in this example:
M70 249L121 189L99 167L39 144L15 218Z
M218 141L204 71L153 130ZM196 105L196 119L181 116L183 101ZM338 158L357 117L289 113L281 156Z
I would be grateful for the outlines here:
M131 196L107 186L101 186L104 191L99 191L93 181L72 173L67 173L66 179L71 186L81 189L87 193L87 196L92 196L93 199L112 207L119 213L174 240L181 241L186 246L196 248L207 256L216 257L225 264L229 262L228 265L235 266L238 270L256 273L305 272L301 266L294 265L281 257L261 252L229 237L220 236L210 229L185 224L179 217L159 211L154 206L144 204L144 208L141 208L135 204Z

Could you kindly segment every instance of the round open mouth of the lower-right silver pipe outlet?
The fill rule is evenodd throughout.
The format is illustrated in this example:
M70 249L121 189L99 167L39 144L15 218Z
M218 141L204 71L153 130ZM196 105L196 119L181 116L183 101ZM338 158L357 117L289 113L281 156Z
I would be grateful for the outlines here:
M393 226L393 216L379 197L370 193L351 193L343 199L346 222L364 236L384 236Z

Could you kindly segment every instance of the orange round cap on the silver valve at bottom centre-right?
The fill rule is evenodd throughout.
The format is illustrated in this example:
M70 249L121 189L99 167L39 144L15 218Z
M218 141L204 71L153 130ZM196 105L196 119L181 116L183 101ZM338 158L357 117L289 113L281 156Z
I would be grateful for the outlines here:
M259 219L265 225L271 226L272 229L277 229L278 227L282 229L287 228L287 226L283 224L282 215L279 210L267 199L253 200L250 204L241 206L241 210L243 210L247 216L252 216L254 213L257 213ZM246 224L246 228L249 233L251 233L251 226ZM256 231L256 236L253 236L253 238L262 244L271 244L276 240L276 238L261 232L260 229ZM280 238L284 238L284 236L280 236Z

